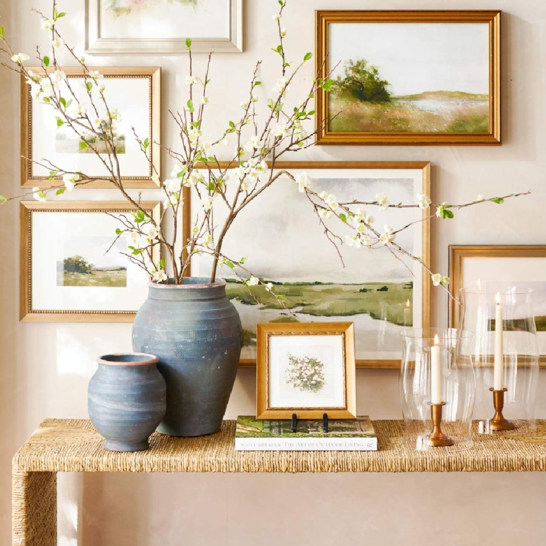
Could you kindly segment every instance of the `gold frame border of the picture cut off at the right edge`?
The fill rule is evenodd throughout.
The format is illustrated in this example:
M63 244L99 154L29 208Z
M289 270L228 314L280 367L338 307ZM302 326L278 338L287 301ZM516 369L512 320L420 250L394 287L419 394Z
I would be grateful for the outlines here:
M450 288L455 298L459 290L465 287L464 262L469 258L543 258L546 260L546 245L450 245L449 278ZM546 282L546 281L545 281ZM459 328L461 305L449 298L448 325ZM546 367L546 354L539 358L541 367Z

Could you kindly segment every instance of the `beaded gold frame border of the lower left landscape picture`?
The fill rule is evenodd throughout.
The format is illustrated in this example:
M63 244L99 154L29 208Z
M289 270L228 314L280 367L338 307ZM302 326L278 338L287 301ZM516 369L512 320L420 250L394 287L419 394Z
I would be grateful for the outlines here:
M161 203L159 201L143 201L140 207L149 213L155 222L161 219ZM21 322L112 322L132 323L136 310L75 310L75 309L44 309L33 305L33 214L36 212L72 212L72 213L130 213L136 207L127 201L21 201L20 203L20 299L19 317ZM113 218L112 218L113 219ZM112 241L115 234L112 231ZM47 252L55 252L51 245ZM158 263L159 248L152 250L152 259ZM54 258L56 259L56 258ZM143 280L144 282L144 280ZM146 281L147 284L147 281Z

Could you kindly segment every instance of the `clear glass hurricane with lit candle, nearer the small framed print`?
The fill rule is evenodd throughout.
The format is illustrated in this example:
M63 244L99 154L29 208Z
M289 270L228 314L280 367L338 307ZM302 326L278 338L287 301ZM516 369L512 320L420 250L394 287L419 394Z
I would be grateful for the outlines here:
M405 441L419 451L472 447L472 334L454 328L407 329L402 338Z

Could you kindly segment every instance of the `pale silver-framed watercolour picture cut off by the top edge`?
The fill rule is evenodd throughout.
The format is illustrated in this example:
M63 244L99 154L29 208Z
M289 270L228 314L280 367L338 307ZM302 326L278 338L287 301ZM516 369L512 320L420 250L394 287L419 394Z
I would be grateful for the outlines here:
M243 49L243 0L86 0L86 52L180 55Z

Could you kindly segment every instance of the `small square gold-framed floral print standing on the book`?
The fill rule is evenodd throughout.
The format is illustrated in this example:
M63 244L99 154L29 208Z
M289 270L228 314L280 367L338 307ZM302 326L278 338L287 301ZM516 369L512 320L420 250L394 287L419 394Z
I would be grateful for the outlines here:
M354 419L353 324L258 324L256 392L257 419Z

